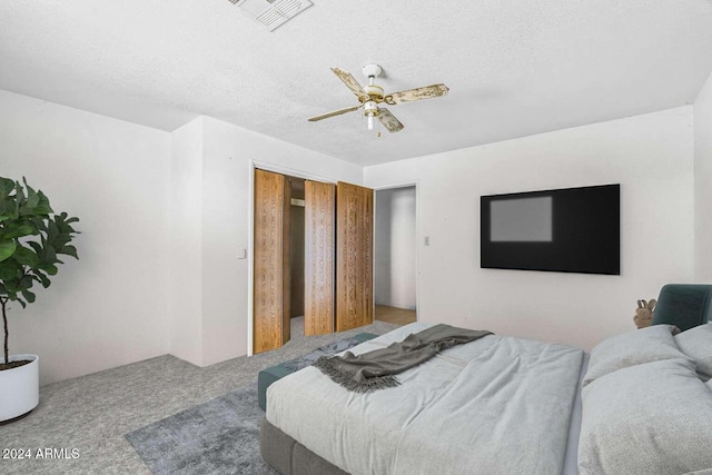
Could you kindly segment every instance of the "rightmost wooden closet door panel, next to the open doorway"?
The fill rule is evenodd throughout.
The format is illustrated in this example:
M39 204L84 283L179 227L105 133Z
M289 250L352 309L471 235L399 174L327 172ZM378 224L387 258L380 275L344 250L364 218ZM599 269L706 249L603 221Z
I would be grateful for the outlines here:
M374 321L374 190L336 186L336 330Z

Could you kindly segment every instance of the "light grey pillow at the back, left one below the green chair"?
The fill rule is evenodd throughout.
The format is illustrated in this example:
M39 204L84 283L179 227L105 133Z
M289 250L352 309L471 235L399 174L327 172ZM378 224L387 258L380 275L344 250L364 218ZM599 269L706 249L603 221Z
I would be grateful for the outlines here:
M685 358L673 335L680 331L673 325L653 325L604 339L591 350L589 370L583 386L629 366L661 359Z

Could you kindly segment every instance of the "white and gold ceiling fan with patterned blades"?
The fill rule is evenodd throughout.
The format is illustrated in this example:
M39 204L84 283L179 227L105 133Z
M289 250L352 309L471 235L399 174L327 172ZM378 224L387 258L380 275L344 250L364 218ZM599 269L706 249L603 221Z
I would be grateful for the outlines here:
M405 91L393 92L386 95L380 86L377 86L375 79L380 75L382 69L378 65L364 66L363 73L368 78L368 86L362 88L358 81L350 72L343 71L338 68L332 68L332 71L346 85L348 89L356 95L358 106L347 107L345 109L335 110L333 112L315 116L309 119L310 122L328 119L329 117L340 116L342 113L353 112L364 108L364 116L368 119L368 130L374 128L374 118L378 118L389 132L397 132L403 129L403 123L395 118L393 113L385 107L378 105L385 102L388 106L396 106L402 102L413 102L422 99L431 99L445 96L449 90L445 85L432 85Z

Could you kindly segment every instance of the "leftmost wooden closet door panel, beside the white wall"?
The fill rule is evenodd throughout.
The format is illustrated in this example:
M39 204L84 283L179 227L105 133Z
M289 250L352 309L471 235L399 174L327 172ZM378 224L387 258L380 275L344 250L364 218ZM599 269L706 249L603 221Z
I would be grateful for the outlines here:
M289 340L290 197L284 175L255 170L254 353Z

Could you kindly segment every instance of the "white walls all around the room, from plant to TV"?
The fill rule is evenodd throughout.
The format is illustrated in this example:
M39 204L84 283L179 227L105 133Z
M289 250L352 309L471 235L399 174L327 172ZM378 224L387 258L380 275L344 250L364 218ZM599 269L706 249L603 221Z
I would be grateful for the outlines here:
M26 176L82 231L80 260L11 309L10 350L40 355L42 384L169 352L201 366L245 354L237 251L250 247L254 162L375 188L417 180L421 319L590 348L633 328L637 298L692 280L694 243L694 277L712 280L711 89L694 137L685 107L365 170L209 118L171 135L0 91L0 176ZM622 276L479 269L481 195L604 182L622 184Z

